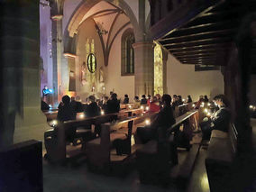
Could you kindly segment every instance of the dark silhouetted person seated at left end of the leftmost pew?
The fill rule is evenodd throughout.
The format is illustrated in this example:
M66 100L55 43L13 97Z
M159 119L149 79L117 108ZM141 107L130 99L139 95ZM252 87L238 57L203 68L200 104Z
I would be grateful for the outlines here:
M74 109L70 105L70 97L69 96L62 97L62 104L60 106L61 107L59 107L59 111L57 114L57 119L60 122L65 122L65 121L76 119L77 113L74 111Z

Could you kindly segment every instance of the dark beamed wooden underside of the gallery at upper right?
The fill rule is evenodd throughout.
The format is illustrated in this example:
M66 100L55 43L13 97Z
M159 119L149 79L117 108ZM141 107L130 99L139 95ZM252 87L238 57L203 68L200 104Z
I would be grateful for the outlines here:
M255 1L215 2L215 5L205 7L205 10L184 23L178 20L177 27L170 28L158 38L160 44L181 63L226 65L229 50L235 41L243 17L256 11ZM197 9L197 7L192 9ZM190 13L193 13L193 10L192 12L190 10Z

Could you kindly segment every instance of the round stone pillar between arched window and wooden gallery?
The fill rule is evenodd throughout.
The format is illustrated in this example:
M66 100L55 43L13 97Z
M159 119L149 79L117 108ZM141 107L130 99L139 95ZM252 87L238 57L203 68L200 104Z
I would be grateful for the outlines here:
M154 43L136 42L134 49L135 96L154 93Z

